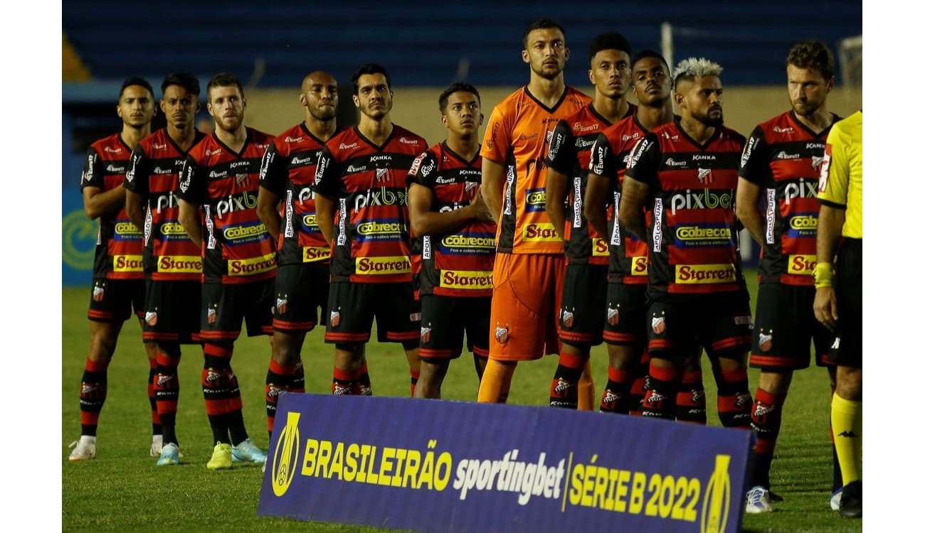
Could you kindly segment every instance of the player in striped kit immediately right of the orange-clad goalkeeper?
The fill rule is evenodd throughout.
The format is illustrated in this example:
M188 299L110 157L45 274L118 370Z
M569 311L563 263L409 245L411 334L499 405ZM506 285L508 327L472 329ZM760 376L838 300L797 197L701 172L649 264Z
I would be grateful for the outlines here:
M549 142L546 211L565 242L558 324L562 345L559 367L549 385L549 406L578 407L578 381L589 366L591 346L602 342L609 252L602 234L588 227L583 213L585 188L594 140L635 110L626 102L630 53L630 43L620 33L603 33L591 41L587 76L594 85L594 100L562 118Z

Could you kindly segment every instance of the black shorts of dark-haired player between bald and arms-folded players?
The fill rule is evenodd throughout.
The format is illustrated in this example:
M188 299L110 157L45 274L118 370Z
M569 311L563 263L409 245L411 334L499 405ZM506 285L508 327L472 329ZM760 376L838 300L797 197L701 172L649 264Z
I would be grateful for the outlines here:
M414 299L411 282L332 283L327 297L325 342L369 342L374 317L376 339L380 343L418 340L421 334L421 302Z

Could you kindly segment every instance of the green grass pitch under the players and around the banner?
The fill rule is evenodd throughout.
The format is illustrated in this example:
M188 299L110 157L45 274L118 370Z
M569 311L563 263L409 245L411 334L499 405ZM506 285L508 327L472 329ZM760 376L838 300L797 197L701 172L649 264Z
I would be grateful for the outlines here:
M754 275L749 277L754 278ZM753 296L757 292L752 290ZM182 464L154 466L148 456L151 414L146 393L147 362L136 321L126 323L109 367L109 392L100 418L97 458L68 462L67 444L80 435L78 389L89 339L86 310L89 289L67 287L62 291L62 433L61 507L64 531L321 531L373 532L374 527L307 523L256 515L261 472L259 466L209 472L205 462L212 453L211 431L203 409L199 386L202 352L184 346L180 363L181 393L177 419ZM269 359L265 337L241 338L234 355L240 378L244 420L253 441L266 449L268 437L263 403L264 378ZM595 382L606 382L606 350L592 352ZM322 340L322 330L309 333L302 350L308 392L330 391L332 348ZM400 345L367 347L373 391L377 395L409 394L407 365ZM708 364L705 360L705 364ZM512 383L509 402L545 405L555 357L521 364ZM705 372L709 394L709 424L717 425L715 390ZM750 373L754 392L757 373ZM443 385L445 398L475 401L477 380L472 360L462 357L450 365ZM796 373L771 484L784 502L768 515L746 515L746 531L860 531L861 520L847 520L829 509L832 477L828 436L830 392L822 369ZM603 416L603 415L602 415ZM615 530L619 525L614 524Z

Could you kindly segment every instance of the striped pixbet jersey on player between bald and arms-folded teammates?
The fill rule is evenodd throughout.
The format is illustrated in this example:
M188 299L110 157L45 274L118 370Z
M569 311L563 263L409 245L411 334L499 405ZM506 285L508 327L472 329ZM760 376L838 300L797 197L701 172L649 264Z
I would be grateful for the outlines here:
M408 169L425 151L424 138L392 125L382 146L351 127L325 144L314 192L337 199L332 281L412 281Z

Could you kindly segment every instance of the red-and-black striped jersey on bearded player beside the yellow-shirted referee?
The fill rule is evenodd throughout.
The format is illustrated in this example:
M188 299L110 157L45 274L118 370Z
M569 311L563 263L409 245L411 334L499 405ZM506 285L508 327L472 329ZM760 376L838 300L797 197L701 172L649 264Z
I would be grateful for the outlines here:
M840 119L834 116L833 124ZM759 283L813 285L816 189L830 129L813 133L789 111L759 124L748 138L739 176L764 189Z

